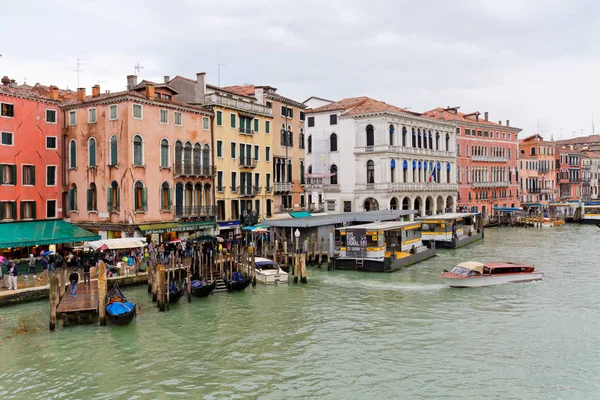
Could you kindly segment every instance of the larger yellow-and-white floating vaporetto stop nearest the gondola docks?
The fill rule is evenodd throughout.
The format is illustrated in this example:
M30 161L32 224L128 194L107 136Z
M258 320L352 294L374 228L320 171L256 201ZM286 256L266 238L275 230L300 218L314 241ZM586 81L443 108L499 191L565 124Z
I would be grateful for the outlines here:
M421 241L421 222L389 221L338 228L337 269L391 272L435 256Z

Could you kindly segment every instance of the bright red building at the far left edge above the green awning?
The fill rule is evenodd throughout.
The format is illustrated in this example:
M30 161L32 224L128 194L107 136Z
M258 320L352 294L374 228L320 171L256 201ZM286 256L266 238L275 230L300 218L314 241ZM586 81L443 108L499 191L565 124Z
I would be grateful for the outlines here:
M62 218L58 88L0 84L0 222Z

